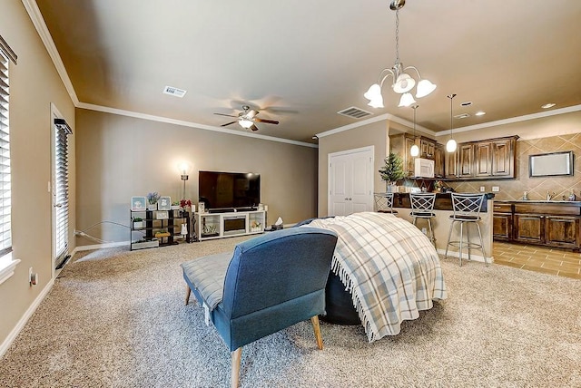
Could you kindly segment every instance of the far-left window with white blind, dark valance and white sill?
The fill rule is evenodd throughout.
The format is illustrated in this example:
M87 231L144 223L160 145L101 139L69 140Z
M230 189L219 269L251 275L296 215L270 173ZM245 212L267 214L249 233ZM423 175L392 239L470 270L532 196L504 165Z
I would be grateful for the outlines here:
M14 274L20 260L12 258L12 203L10 185L10 131L8 125L8 68L15 53L0 36L0 284Z

